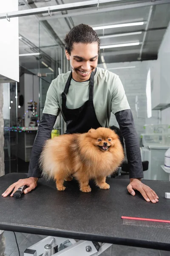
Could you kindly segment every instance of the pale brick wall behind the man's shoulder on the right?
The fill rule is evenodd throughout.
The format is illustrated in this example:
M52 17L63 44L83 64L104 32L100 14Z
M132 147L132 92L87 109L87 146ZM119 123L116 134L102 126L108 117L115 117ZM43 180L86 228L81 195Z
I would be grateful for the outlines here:
M152 111L152 117L147 118L146 81L148 70L153 70L156 61L133 61L107 64L109 71L116 73L122 81L127 100L129 102L138 136L144 133L145 124L158 124L158 111ZM98 67L102 67L101 64ZM124 68L122 68L124 67ZM151 83L152 83L151 72ZM111 114L110 125L118 125L116 118Z

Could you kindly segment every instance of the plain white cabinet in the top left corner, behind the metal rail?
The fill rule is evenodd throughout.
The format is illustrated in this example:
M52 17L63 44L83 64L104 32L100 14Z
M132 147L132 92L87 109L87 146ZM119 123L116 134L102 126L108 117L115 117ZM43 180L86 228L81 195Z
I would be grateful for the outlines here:
M18 11L18 0L0 0L0 12ZM19 81L18 18L0 20L0 75Z

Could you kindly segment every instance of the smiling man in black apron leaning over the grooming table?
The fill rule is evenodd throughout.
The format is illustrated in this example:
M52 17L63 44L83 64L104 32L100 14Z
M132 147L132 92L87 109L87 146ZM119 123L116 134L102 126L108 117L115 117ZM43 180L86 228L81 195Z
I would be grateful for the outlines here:
M139 190L146 201L158 202L156 193L141 182L143 169L139 142L122 82L116 74L97 67L99 49L99 37L88 25L75 26L65 36L65 54L72 70L51 82L32 149L28 178L12 184L3 193L4 197L23 185L28 186L25 193L37 186L41 177L39 157L42 147L50 138L60 111L67 123L66 134L109 127L112 112L125 139L130 167L128 192L135 195L134 190Z

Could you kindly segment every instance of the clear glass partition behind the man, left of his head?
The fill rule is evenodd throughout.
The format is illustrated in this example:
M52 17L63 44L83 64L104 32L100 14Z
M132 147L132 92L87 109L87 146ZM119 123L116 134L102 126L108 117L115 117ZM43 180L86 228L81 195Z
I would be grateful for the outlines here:
M39 44L40 44L40 70L38 76L40 77L40 117L45 104L46 93L51 81L61 73L68 71L68 63L65 61L64 45L59 44L57 34L52 29L47 31L44 23L39 23ZM54 130L58 130L59 134L65 132L65 122L61 114L57 117Z

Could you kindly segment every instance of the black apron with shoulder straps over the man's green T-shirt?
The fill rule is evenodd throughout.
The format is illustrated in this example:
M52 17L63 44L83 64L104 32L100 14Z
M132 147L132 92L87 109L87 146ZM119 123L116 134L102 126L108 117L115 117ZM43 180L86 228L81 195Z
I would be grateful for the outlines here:
M64 92L62 93L62 113L67 127L65 133L85 133L91 128L97 129L102 127L97 120L93 104L94 71L92 71L90 77L88 101L86 101L81 107L75 109L69 109L66 107L67 93L70 87L71 78L72 71L65 84Z

